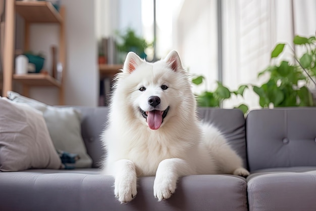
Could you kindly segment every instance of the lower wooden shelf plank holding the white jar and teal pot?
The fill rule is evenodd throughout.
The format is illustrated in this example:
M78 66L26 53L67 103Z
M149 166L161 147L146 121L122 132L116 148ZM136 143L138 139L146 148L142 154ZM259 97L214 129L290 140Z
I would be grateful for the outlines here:
M13 79L28 86L48 86L61 87L61 83L48 74L30 73L30 74L14 74Z

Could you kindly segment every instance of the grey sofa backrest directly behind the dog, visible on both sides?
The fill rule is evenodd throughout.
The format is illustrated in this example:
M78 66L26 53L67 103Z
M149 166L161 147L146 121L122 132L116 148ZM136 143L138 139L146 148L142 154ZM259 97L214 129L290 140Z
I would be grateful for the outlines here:
M106 128L108 107L76 107L82 113L81 133L92 166L99 167L103 151L100 135ZM213 123L226 137L232 148L242 157L246 166L245 119L239 109L199 108L202 121Z

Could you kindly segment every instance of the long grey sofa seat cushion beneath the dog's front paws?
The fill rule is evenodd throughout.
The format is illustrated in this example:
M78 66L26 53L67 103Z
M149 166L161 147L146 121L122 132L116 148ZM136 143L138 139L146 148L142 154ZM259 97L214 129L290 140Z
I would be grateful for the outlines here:
M0 210L247 210L246 181L239 177L183 177L176 193L161 202L153 196L154 177L142 177L135 199L120 204L114 197L114 178L98 172L82 169L0 173Z

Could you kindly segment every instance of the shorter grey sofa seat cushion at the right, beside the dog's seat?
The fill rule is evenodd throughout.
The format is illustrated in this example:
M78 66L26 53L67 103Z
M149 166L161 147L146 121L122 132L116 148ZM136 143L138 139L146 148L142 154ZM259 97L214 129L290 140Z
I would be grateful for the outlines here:
M247 178L250 211L315 210L316 166L267 168Z

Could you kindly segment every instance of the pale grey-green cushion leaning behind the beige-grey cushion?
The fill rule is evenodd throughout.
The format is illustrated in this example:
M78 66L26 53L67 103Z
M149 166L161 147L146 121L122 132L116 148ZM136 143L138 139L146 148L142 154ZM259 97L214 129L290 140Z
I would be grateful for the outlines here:
M81 113L73 107L58 108L26 98L9 91L8 97L16 103L26 103L43 112L45 122L54 146L58 150L78 154L75 167L91 167L92 159L87 154L81 136Z

